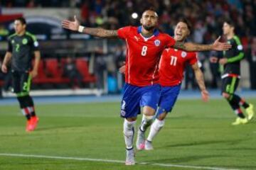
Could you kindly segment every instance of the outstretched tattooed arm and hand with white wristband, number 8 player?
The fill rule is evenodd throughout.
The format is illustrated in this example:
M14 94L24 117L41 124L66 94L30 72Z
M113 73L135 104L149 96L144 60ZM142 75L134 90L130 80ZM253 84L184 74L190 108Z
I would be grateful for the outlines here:
M61 25L63 28L68 30L78 31L80 33L85 33L88 35L100 37L100 38L117 38L117 30L105 30L103 28L87 28L80 26L80 23L76 16L74 16L75 21L63 20Z

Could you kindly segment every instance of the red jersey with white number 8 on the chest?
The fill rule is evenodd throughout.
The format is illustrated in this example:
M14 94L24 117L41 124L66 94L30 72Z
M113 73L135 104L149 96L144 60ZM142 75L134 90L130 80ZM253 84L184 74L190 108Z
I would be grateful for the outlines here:
M142 26L120 28L117 34L127 44L125 82L134 86L158 84L161 52L175 44L174 38L159 30L154 30L151 37L144 38Z

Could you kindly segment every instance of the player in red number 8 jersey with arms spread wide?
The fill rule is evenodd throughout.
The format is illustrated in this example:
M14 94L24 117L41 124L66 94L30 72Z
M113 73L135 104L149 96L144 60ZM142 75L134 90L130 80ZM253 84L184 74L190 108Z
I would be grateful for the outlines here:
M124 94L121 116L124 118L124 141L127 149L126 165L134 165L134 124L137 115L144 114L141 127L151 125L160 97L158 64L165 47L175 47L186 51L228 50L230 45L219 42L198 45L191 42L176 42L171 36L157 30L156 11L148 9L142 13L142 26L127 26L118 30L87 28L75 21L62 21L63 28L100 38L122 38L127 43Z

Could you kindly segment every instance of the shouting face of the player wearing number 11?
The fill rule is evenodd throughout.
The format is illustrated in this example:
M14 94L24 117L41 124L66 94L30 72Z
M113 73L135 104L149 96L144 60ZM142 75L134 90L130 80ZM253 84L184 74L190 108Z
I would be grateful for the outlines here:
M174 39L176 41L183 41L188 37L189 34L190 31L188 30L186 23L179 22L174 30Z

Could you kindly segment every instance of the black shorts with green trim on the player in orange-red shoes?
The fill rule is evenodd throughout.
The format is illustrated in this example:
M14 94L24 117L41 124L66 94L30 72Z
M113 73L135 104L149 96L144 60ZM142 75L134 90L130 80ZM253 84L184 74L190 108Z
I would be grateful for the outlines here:
M12 71L12 86L15 94L28 93L31 88L31 76L28 72Z

